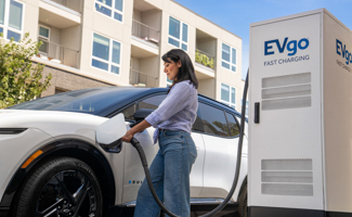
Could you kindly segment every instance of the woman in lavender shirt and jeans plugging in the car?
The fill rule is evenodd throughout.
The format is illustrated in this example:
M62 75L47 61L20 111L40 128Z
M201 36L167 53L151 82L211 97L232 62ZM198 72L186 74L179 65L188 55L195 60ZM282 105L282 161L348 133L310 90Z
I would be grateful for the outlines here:
M183 50L170 50L161 59L164 72L173 81L169 93L156 111L127 131L122 141L131 141L134 133L149 126L156 128L154 142L158 140L160 149L149 167L153 186L171 213L188 217L190 173L197 157L191 128L198 108L198 81L191 59ZM134 217L158 217L159 213L160 208L144 180Z

